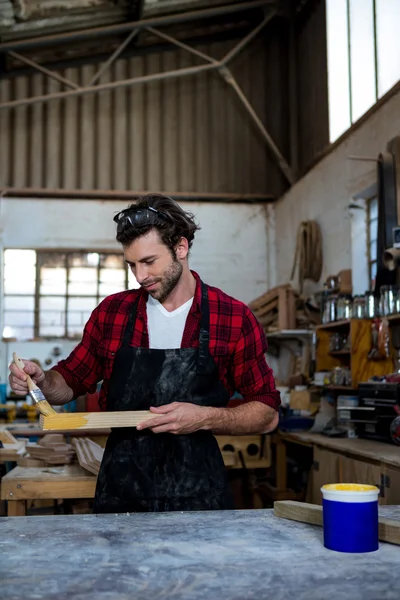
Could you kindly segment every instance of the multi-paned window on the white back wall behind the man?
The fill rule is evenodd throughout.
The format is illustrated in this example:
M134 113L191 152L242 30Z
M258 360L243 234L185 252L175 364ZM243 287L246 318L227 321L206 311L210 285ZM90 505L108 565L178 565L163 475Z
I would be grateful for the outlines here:
M3 337L80 338L101 300L133 287L121 254L5 250Z

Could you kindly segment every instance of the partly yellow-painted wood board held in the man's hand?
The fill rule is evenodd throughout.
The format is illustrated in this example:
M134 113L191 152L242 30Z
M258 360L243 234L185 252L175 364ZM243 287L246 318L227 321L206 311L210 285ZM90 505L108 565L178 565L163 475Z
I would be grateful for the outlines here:
M39 425L45 431L73 429L110 429L110 427L136 427L157 415L149 410L111 411L94 413L62 413L45 417L40 415Z

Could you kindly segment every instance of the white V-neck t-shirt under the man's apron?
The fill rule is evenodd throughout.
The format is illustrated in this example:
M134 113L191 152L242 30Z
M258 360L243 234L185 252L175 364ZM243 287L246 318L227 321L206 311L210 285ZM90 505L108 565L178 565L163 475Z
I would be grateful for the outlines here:
M168 312L158 300L149 295L146 310L150 348L167 350L181 347L186 317L192 303L193 298L190 298L176 310Z

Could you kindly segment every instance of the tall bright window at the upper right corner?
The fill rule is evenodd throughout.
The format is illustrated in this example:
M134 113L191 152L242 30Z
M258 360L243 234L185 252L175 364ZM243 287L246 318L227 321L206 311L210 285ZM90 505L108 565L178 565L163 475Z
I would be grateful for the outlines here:
M333 142L400 79L399 0L326 0L326 26Z

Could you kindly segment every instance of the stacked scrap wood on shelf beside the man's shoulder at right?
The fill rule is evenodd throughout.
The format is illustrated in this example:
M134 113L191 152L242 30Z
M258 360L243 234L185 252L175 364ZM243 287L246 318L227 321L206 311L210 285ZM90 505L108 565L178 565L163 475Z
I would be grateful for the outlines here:
M249 308L266 333L309 329L320 323L319 307L301 296L289 283L252 300Z

